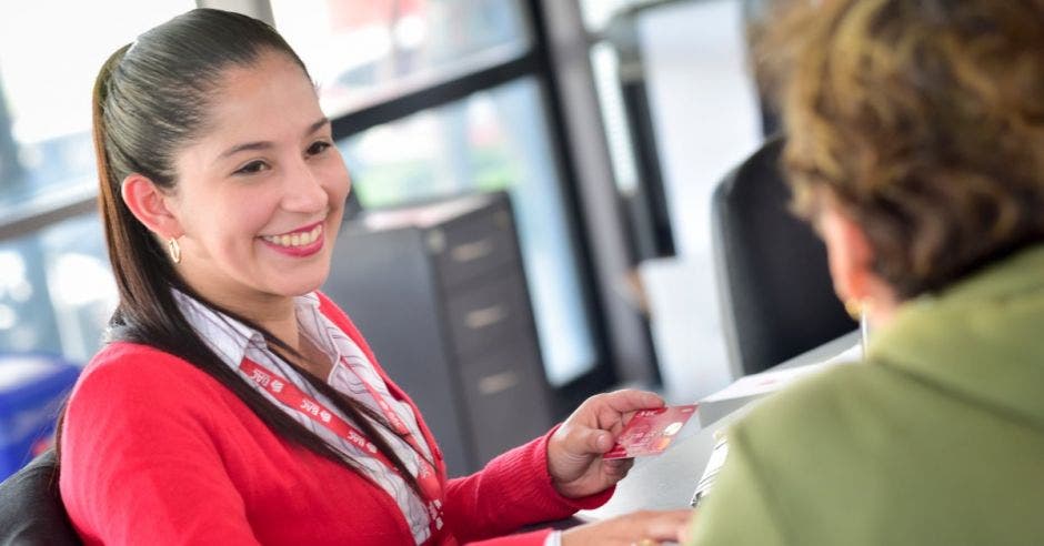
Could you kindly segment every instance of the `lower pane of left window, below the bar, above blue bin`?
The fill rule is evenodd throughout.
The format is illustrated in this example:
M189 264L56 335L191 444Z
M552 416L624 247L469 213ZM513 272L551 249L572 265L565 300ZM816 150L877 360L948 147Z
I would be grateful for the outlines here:
M97 215L0 244L0 352L44 351L87 362L116 304Z

